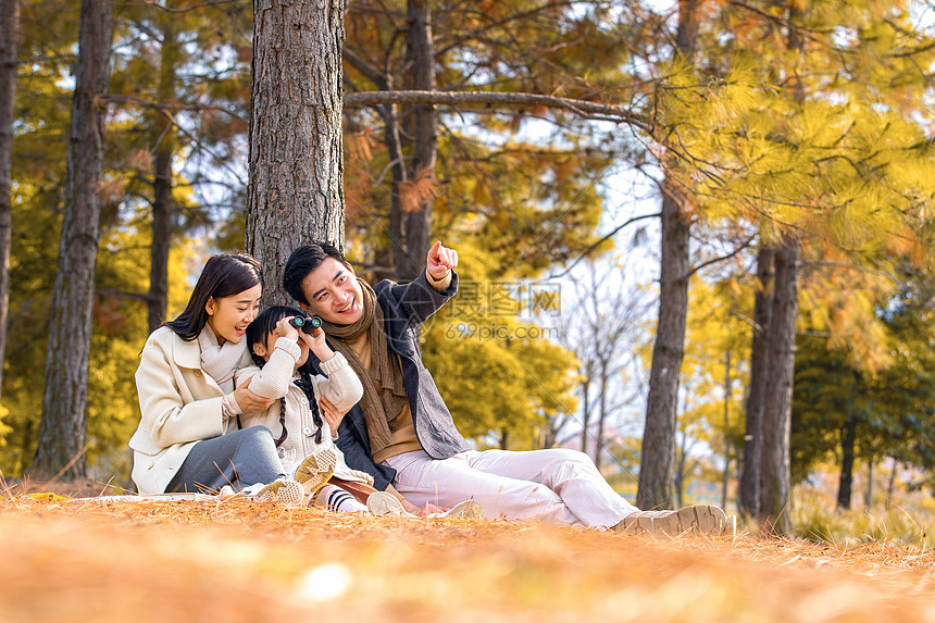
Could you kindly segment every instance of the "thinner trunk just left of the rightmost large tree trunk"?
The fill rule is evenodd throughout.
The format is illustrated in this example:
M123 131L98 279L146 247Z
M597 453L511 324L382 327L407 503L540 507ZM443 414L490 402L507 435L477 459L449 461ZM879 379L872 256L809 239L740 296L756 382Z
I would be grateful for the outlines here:
M737 506L743 514L755 518L759 512L760 462L763 451L763 399L769 377L769 326L773 315L773 249L761 247L757 254L757 279L753 299L753 342L750 349L750 387L747 394L747 425L744 434L744 468Z

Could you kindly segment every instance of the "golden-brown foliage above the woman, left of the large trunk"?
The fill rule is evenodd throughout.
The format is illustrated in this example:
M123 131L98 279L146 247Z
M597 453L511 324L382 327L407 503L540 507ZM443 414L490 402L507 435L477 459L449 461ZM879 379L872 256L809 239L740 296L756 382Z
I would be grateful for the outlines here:
M175 229L220 223L226 225L220 246L242 248L242 225L229 222L244 220L252 12L199 3L178 11L177 4L116 8L116 114L108 128L108 158L119 171L113 191L117 203L138 208L135 217L147 221L153 160L169 150L173 187L188 198L174 205Z

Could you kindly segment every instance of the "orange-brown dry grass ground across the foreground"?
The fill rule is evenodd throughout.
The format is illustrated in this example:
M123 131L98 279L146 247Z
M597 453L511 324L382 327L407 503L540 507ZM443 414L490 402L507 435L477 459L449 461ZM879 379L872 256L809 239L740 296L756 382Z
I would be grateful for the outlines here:
M230 499L0 501L2 621L935 621L935 555Z

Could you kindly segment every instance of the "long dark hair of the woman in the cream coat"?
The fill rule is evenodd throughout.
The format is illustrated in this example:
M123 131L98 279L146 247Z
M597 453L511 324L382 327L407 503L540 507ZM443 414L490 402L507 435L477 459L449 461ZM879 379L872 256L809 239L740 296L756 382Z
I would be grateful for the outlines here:
M190 341L208 324L208 299L233 297L257 284L263 284L263 271L252 257L247 253L212 256L204 263L185 311L165 325L182 339Z

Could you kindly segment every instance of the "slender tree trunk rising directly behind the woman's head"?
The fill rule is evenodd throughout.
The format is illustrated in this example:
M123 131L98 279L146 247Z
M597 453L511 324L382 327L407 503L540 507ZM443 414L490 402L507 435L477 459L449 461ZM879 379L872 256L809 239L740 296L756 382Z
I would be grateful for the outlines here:
M178 63L178 42L173 16L163 20L162 58L158 100L167 104L175 100L175 74ZM169 309L169 248L172 241L172 155L175 148L174 126L169 116L157 112L153 120L155 144L154 179L152 183L152 247L150 250L149 296L147 311L149 331L165 322Z

